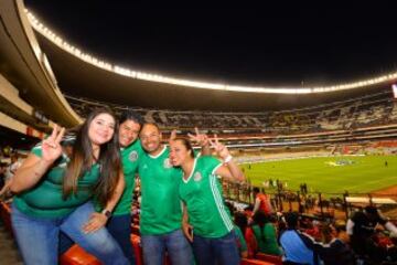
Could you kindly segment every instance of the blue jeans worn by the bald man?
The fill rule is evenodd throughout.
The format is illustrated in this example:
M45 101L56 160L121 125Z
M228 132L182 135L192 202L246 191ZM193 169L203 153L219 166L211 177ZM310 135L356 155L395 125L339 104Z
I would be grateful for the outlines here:
M182 230L163 235L141 235L143 264L162 265L168 252L172 265L193 264L191 246Z

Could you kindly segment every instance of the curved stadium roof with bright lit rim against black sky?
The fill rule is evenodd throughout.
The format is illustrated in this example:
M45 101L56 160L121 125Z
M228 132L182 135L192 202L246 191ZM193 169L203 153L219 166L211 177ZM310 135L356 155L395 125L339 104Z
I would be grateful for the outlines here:
M28 1L29 2L29 1ZM34 7L34 4L32 3ZM99 6L99 8L98 8ZM101 3L96 6L96 8L99 10L101 7ZM71 15L71 18L78 18L78 12L82 12L83 9L78 9L78 7L74 7L76 10L76 13ZM54 9L56 10L56 9ZM98 11L96 10L96 11ZM168 10L169 11L169 10ZM99 10L98 13L104 12L104 10ZM111 8L107 13L110 13L110 17L114 15L111 12L115 12L114 8ZM119 12L119 15L126 15L126 13L120 12L120 10L117 10ZM89 12L92 13L92 12ZM62 14L62 12L61 12ZM84 13L87 14L87 13ZM173 14L171 12L171 14ZM51 15L54 15L52 13ZM50 17L51 17L50 15ZM386 14L385 14L386 15ZM42 17L46 18L46 14L42 14ZM93 19L90 15L87 15L88 18ZM319 17L319 15L316 15ZM81 19L81 18L79 18ZM96 18L99 19L100 18ZM377 18L378 19L378 18ZM262 22L262 21L261 21ZM98 21L98 24L101 25L101 21ZM329 25L329 24L328 24ZM341 25L341 24L337 24ZM374 25L377 25L374 23ZM51 25L47 25L51 26ZM52 31L49 31L49 29L45 29L43 32L43 28L35 26L36 30L42 32L42 34L46 34L46 38L44 38L42 34L37 34L39 42L41 43L42 50L45 52L45 54L49 57L50 64L55 73L55 76L58 82L58 86L66 94L72 94L74 96L82 96L82 97L88 97L93 99L98 100L107 100L124 105L130 105L130 106L139 106L139 107L151 107L151 108L168 108L168 109L214 109L214 110L268 110L268 109L287 109L287 108L296 108L296 107L303 107L314 104L321 104L321 103L328 103L328 102L334 102L344 99L346 97L354 97L358 95L363 95L365 93L371 93L373 91L376 91L379 88L379 86L371 86L368 84L371 83L382 83L380 86L386 87L388 86L391 81L396 80L396 73L393 71L389 71L388 74L380 73L379 71L373 71L374 65L362 65L362 64L355 64L355 62L348 62L348 59L346 59L347 62L339 62L340 65L350 64L350 71L351 75L340 75L342 77L350 76L360 76L357 74L360 70L363 70L363 67L366 67L372 75L364 75L362 72L361 76L362 78L353 78L353 80L343 80L340 82L333 81L333 83L325 82L325 83L315 83L316 85L310 85L314 84L313 77L312 80L309 80L309 82L299 84L292 87L292 89L280 89L283 86L276 85L272 87L276 87L276 89L267 89L269 86L261 85L264 83L258 83L260 80L253 78L251 82L244 83L246 77L243 77L240 82L236 81L235 77L230 76L222 76L222 82L219 80L211 80L205 78L205 76L214 76L212 73L208 73L207 75L200 75L196 78L190 78L186 76L189 73L191 73L190 68L186 68L186 75L183 75L182 72L173 72L176 73L174 75L168 74L171 73L168 70L164 70L163 72L141 72L141 71L131 71L130 66L117 66L114 64L109 64L109 61L101 61L101 57L106 57L107 54L100 54L98 60L94 59L92 55L87 55L85 53L89 53L92 51L98 51L98 50L81 50L76 46L79 46L81 42L79 40L84 40L86 38L89 38L90 34L87 33L87 35L79 35L79 40L77 40L77 43L71 43L69 40L66 40L68 43L62 40L62 45L60 43L56 43L56 39L49 38L51 34L54 34ZM67 26L66 26L67 28ZM85 25L82 24L82 28L85 28ZM337 28L337 26L336 26ZM376 26L375 26L376 28ZM129 33L129 28L120 28L115 29L115 31L121 31L122 34L126 35L128 39L128 35L135 35L135 33ZM109 30L109 29L107 29ZM62 29L58 29L62 33ZM81 29L76 29L76 32L82 33ZM49 33L50 32L50 33ZM106 45L111 42L108 42L106 40L107 32L106 31L99 31L100 34L104 34L103 39L100 39L100 43L98 45ZM288 32L287 32L288 33ZM371 31L368 31L369 38L372 34L369 34ZM384 32L377 32L379 34L383 34ZM149 33L148 33L149 34ZM140 34L138 34L140 36ZM271 38L272 35L270 35ZM297 36L297 35L292 35ZM375 36L374 36L375 38ZM76 38L74 36L76 40ZM52 40L52 41L50 41ZM227 39L226 39L227 40ZM362 39L360 39L362 40ZM371 40L371 39L369 39ZM129 43L129 39L127 40L127 43ZM301 39L297 38L296 41L300 42ZM344 41L345 45L348 46L352 43L350 43L347 40L340 40ZM378 49L379 51L382 47L387 46L388 44L393 43L395 40L391 39L390 41L378 41L377 43L380 43L380 46L376 46L375 49ZM367 41L369 42L369 41ZM65 43L67 44L65 46ZM291 51L293 50L291 46L296 45L294 40L291 41L292 45L290 45ZM386 43L388 43L386 45ZM215 42L216 44L216 42ZM329 50L333 50L332 44L334 42L330 43ZM342 44L343 45L343 44ZM117 46L117 45L116 45ZM319 43L319 47L322 45ZM249 45L245 46L247 51L249 50ZM333 52L339 52L337 47L334 47L335 50ZM111 50L111 49L110 49ZM161 50L161 47L160 47ZM365 50L365 49L364 49ZM388 53L389 56L387 56L387 60L384 59L384 65L387 68L387 66L390 66L390 62L395 62L394 60L397 59L397 54L395 49L390 51L384 51L387 49L383 49L383 52ZM109 50L108 50L109 51ZM117 51L116 51L117 52ZM120 50L120 54L125 53L126 50ZM115 53L115 51L112 51ZM84 55L84 56L76 56L77 55ZM182 53L183 54L183 53ZM324 53L318 54L318 56L323 56ZM129 55L131 55L129 53ZM143 54L144 55L144 54ZM141 55L141 56L143 56ZM230 54L230 56L237 56L238 54ZM358 54L360 55L360 54ZM151 57L150 54L147 55L148 57ZM368 61L371 61L372 56L366 53L364 57L367 57ZM325 59L329 59L325 56ZM312 60L308 57L308 60ZM382 62L382 56L380 56ZM154 60L155 61L155 60ZM201 64L201 59L191 59L193 62L197 62L197 64ZM94 64L93 64L94 62ZM126 61L122 61L121 63L125 63ZM159 57L159 65L164 65L161 63L161 56ZM358 62L358 61L356 61ZM118 63L118 62L114 62ZM175 62L169 62L170 68L174 67ZM288 65L290 62L286 62L286 65ZM255 64L255 63L254 63ZM335 62L333 62L335 64ZM125 65L125 64L124 64ZM144 64L142 64L144 67ZM208 65L208 64L207 64ZM244 66L243 62L243 66ZM328 64L328 65L332 65ZM356 68L352 68L352 65L355 65ZM376 65L376 64L375 64ZM98 67L99 66L99 67ZM302 66L302 67L300 67ZM297 67L294 68L296 72L302 73L300 68L304 68L307 64L304 62L298 62ZM322 65L319 65L321 67ZM276 67L277 68L277 67ZM342 67L343 68L343 67ZM347 67L348 68L348 67ZM389 67L390 68L390 67ZM393 67L391 67L393 68ZM213 68L208 67L207 71L211 72ZM343 70L346 70L344 67ZM244 72L245 70L243 70ZM357 72L358 71L358 72ZM373 71L373 72L371 72ZM216 71L215 71L216 72ZM256 71L251 71L253 73L258 73ZM330 71L331 73L332 71ZM282 73L282 72L281 72ZM374 75L376 73L377 75ZM391 73L391 74L389 74ZM311 74L310 71L305 74ZM288 83L289 78L297 75L290 74L285 75L285 81ZM314 76L314 75L313 75ZM377 80L371 80L372 77L378 77ZM227 80L227 82L225 81ZM369 82L362 82L362 81L368 81ZM154 81L154 82L153 82ZM270 84L273 80L270 78ZM358 81L358 83L356 82ZM290 81L289 81L290 82ZM340 86L340 84L350 83L348 85ZM244 83L244 85L242 85ZM259 85L258 85L259 84ZM265 83L266 84L266 83ZM297 84L297 83L294 83ZM309 85L308 85L309 84ZM320 84L320 85L319 85ZM210 88L210 89L198 89L194 87L200 88ZM259 87L259 89L258 89ZM271 93L262 93L265 87L265 92L271 92ZM291 86L287 86L290 88ZM305 88L305 89L302 89ZM354 89L346 91L345 88L352 88L352 87L358 87ZM247 92L235 92L237 91L246 91L251 89L255 92L261 92L261 93L247 93ZM271 87L270 87L271 88ZM319 91L331 91L331 89L345 89L345 91L337 91L337 92L329 92L329 93L313 93ZM267 89L267 91L266 91ZM281 93L298 93L298 94L279 94L273 92L281 92ZM313 93L309 95L300 95L300 93Z

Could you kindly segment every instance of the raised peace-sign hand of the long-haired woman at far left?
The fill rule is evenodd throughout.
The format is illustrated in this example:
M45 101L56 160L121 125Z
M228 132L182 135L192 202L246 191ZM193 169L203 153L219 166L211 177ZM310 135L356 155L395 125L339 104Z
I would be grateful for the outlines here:
M49 138L42 142L42 158L46 162L55 161L62 153L62 147L60 145L63 136L65 134L65 128L61 128L55 125L54 129Z

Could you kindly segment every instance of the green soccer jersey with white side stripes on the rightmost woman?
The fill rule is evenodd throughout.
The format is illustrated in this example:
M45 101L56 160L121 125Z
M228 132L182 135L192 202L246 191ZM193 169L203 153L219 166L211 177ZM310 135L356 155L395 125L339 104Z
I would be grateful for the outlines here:
M179 193L187 208L189 223L203 237L221 237L233 230L229 212L224 203L221 183L215 171L222 163L211 157L194 160L192 173L182 179Z

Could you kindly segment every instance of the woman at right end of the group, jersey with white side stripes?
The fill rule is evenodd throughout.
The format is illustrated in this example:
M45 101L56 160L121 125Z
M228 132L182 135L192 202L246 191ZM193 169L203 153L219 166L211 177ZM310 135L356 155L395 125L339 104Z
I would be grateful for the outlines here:
M176 138L170 142L171 163L183 171L179 188L184 203L183 230L192 242L197 264L237 265L239 254L234 225L217 177L232 181L242 181L245 177L216 136L210 142L223 162L211 156L194 158L187 139Z

